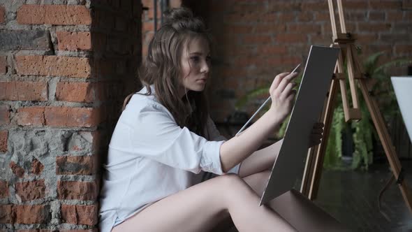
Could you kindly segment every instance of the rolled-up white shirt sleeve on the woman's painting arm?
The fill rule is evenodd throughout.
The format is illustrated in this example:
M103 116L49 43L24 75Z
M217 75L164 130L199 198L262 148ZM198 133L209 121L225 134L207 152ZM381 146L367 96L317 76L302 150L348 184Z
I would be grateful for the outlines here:
M181 128L164 106L142 108L129 133L133 150L142 157L193 173L223 173L220 147L224 141L209 141Z

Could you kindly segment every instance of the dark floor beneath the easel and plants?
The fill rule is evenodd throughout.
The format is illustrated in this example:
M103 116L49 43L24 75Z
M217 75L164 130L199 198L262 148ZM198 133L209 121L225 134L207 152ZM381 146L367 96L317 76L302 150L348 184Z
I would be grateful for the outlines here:
M411 188L412 161L401 164ZM390 221L378 210L378 194L389 177L388 164L373 164L369 171L323 171L315 203L353 231L412 231L412 213L397 184L385 191L381 202Z

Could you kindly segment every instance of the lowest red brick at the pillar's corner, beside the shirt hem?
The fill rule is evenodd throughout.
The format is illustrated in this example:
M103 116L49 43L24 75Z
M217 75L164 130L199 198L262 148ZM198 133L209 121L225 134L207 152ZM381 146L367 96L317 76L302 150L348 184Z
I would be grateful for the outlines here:
M97 215L96 205L61 205L61 219L68 224L94 226Z

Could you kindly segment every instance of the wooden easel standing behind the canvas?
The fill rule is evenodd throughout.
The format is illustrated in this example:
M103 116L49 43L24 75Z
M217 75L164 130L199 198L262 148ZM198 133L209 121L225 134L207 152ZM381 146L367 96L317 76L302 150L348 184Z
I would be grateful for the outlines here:
M328 137L330 133L330 126L332 124L332 115L334 110L334 102L337 96L337 85L341 89L342 102L344 106L345 121L348 122L351 119L361 119L361 113L358 103L358 94L356 92L355 82L358 83L362 95L367 103L367 108L374 122L378 136L381 139L383 149L385 150L386 157L388 158L390 169L397 180L397 184L402 193L404 201L412 212L412 196L411 191L406 186L404 181L404 175L402 166L397 158L395 147L392 145L388 129L385 127L385 122L378 109L376 101L369 94L374 82L370 78L365 77L365 73L362 71L362 66L359 62L356 50L355 41L356 35L346 31L346 25L344 20L344 11L341 0L337 0L339 22L341 26L341 33L337 33L337 26L334 20L334 6L332 0L328 0L330 21L332 23L333 43L331 46L341 48L337 60L337 66L334 71L334 77L330 86L328 99L325 101L321 120L325 124L323 131L322 143L316 147L312 147L307 156L306 166L304 168L304 175L302 178L302 185L300 191L309 199L314 200L318 194L319 182L321 180L321 173L323 167L323 158L325 157L326 147L328 145ZM344 75L344 60L346 60L348 68L348 79L351 89L352 105L350 108L348 104L346 94L346 80Z

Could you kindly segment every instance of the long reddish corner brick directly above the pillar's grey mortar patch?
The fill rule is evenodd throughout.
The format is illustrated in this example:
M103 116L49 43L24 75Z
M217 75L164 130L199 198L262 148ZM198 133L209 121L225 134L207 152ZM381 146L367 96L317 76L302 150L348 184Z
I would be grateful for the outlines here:
M97 126L100 122L98 108L46 107L47 126Z

